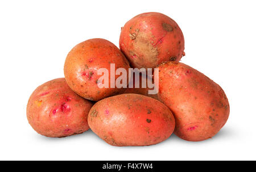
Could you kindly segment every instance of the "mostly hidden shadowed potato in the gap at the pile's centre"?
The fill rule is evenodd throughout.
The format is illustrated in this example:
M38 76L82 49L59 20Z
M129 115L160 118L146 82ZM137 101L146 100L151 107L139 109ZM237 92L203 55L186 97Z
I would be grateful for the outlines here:
M152 78L150 76L146 76L145 79L147 79L147 77ZM134 79L133 88L129 88L127 86L127 89L123 94L141 94L141 95L146 95L148 97L158 100L158 94L148 94L148 90L154 90L154 88L149 88L147 85L147 82L146 82L146 87L145 88L142 87L142 78L143 78L142 75L139 75L139 83L140 83L139 88L135 88L135 79Z

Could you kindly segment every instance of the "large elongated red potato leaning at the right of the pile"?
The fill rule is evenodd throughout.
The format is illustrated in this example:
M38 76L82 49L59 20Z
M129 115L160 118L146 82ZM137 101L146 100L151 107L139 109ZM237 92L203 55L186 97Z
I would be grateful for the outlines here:
M174 113L174 133L184 140L213 137L229 117L228 98L221 87L181 62L159 65L158 98Z

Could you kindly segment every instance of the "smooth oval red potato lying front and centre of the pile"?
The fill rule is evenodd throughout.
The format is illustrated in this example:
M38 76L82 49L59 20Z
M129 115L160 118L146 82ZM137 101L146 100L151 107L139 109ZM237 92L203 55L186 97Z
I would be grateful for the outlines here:
M100 100L89 112L96 135L113 146L157 144L171 136L172 112L161 102L138 94L121 94Z

